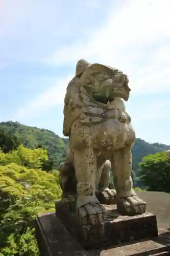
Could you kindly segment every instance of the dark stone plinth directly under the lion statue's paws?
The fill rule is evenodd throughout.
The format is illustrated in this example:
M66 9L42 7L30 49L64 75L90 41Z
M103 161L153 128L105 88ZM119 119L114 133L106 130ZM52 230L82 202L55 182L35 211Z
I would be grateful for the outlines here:
M106 221L99 226L82 226L74 207L56 202L56 216L84 248L103 248L158 236L156 216L150 212L121 216L115 205L104 205Z

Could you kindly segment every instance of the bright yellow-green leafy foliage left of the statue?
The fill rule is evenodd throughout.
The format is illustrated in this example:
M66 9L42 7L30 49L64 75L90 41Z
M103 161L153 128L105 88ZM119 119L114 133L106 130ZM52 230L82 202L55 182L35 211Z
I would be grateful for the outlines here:
M34 219L61 197L58 172L39 169L44 159L41 148L0 152L0 255L38 255Z

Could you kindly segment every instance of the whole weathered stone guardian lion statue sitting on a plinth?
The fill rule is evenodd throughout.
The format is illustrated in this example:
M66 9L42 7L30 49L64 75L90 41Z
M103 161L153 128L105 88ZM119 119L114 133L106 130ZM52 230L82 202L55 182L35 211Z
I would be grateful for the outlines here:
M146 203L132 188L135 132L125 110L128 77L122 71L79 60L64 100L63 134L69 137L67 162L60 167L63 200L76 201L82 223L105 220L99 194L116 198L120 214L142 214ZM111 166L110 166L111 164ZM113 170L115 191L108 188Z

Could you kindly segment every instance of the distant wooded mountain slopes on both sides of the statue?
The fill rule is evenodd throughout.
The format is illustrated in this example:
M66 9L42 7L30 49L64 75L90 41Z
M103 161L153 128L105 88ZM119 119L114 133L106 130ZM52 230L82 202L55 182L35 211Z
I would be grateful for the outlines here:
M0 130L4 130L10 135L17 136L20 142L26 147L35 148L37 145L41 145L48 148L56 168L58 168L60 163L65 159L64 148L68 143L68 139L60 138L52 131L38 129L37 127L31 127L12 121L1 122ZM133 147L133 169L137 172L138 163L142 160L143 156L165 150L170 150L170 145L159 143L150 144L144 140L136 139Z

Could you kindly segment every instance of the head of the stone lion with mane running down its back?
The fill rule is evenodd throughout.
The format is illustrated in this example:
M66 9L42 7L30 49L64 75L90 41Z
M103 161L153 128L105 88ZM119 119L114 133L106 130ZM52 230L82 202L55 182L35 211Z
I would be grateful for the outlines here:
M88 106L105 108L114 98L127 101L130 93L128 82L127 75L118 69L79 60L76 76L68 83L64 100L64 136L69 136L72 123L86 112Z

